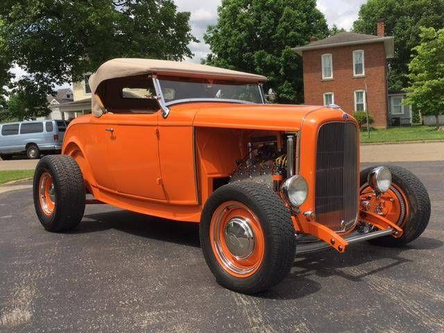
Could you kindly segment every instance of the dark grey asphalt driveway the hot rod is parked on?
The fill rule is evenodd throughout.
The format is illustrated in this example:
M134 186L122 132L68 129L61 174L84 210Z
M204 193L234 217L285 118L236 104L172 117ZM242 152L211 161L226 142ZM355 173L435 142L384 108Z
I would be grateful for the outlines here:
M0 332L444 332L444 162L400 165L432 198L422 237L297 257L259 296L216 284L196 225L92 205L51 234L31 189L0 194Z

